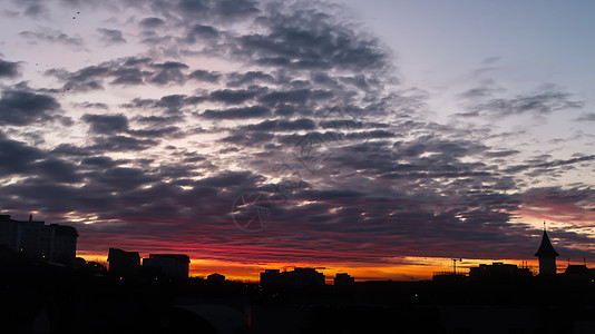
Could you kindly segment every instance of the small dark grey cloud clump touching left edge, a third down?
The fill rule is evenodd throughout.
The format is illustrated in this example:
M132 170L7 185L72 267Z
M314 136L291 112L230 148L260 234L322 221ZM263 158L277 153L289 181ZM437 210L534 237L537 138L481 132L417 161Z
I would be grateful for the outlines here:
M0 98L0 120L6 125L27 126L56 118L60 105L51 96L27 90L6 90Z

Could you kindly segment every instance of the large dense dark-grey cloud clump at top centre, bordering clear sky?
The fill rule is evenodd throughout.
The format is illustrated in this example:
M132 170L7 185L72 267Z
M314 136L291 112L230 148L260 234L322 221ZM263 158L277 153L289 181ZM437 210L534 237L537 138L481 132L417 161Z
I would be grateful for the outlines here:
M370 70L387 66L387 51L374 39L358 36L325 13L298 6L292 9L271 6L260 21L270 31L241 37L236 53L261 65L296 69Z

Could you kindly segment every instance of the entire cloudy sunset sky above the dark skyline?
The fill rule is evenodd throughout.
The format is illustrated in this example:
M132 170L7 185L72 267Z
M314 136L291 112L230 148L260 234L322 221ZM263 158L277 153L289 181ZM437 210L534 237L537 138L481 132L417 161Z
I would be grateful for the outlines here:
M591 1L0 3L0 212L78 256L595 265Z

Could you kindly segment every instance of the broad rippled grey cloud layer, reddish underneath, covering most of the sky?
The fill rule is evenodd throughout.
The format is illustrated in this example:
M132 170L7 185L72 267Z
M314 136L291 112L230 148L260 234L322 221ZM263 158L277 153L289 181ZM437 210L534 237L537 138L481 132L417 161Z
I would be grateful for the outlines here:
M13 82L0 98L0 203L17 218L76 225L80 249L259 263L530 258L533 224L546 219L559 224L558 253L592 252L594 190L553 180L593 171L593 155L531 155L494 140L507 136L494 129L432 121L421 90L393 75L391 51L335 6L80 0L12 10L49 19L55 8L115 17L81 37L20 31L51 50L97 52L38 81L17 82L25 65L0 59ZM461 94L458 117L582 107L556 87L501 91ZM243 195L271 208L265 229L234 224Z

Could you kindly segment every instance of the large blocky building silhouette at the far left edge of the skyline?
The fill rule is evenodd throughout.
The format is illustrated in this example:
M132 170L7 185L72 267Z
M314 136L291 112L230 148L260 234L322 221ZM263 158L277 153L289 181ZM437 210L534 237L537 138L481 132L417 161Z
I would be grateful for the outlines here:
M31 258L75 265L77 253L77 229L72 226L50 224L43 220L11 219L0 215L0 244Z

